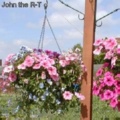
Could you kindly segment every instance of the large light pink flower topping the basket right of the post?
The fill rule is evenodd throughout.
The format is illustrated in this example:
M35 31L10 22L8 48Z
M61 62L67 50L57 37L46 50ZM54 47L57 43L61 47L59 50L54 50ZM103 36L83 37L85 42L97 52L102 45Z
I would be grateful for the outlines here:
M109 38L104 42L106 50L113 50L115 46L117 46L117 40L114 38Z

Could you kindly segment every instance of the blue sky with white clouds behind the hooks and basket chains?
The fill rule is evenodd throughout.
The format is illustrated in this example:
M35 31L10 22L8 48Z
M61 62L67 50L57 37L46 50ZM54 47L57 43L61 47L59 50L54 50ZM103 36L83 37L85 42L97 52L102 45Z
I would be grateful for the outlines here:
M41 1L38 8L2 8L3 2L23 3ZM72 7L84 12L85 0L63 0ZM48 19L54 30L61 50L68 50L75 44L83 44L83 21L78 13L65 7L58 0L48 0ZM31 48L38 46L44 18L45 0L0 0L0 59L10 53L19 51L20 46ZM97 19L120 8L120 0L98 0ZM96 39L104 37L120 37L120 11L102 20L102 27L96 28ZM99 24L99 22L98 22ZM52 33L46 24L44 49L58 51Z

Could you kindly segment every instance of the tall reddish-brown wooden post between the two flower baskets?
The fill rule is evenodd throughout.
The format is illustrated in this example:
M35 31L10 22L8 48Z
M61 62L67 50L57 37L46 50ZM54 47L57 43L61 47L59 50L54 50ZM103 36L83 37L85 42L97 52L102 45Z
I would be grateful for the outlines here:
M93 42L95 39L95 19L97 0L86 0L84 19L83 61L87 72L83 76L81 93L81 119L92 120L92 82L93 82Z

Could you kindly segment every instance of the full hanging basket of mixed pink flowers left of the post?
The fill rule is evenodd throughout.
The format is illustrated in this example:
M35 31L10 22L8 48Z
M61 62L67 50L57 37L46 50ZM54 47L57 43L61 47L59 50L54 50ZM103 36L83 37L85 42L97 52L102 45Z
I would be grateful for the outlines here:
M5 60L2 89L22 90L23 103L38 104L40 110L59 111L78 106L84 65L79 49L62 54L22 47Z

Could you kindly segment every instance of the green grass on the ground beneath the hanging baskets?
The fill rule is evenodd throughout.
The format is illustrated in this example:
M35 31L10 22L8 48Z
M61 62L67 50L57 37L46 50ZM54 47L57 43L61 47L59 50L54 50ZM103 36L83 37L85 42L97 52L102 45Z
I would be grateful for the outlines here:
M18 99L18 98L17 98ZM17 110L15 94L0 95L0 120L29 120L27 113ZM80 120L80 106L70 109L64 115L51 113L40 113L36 107L31 109L31 120ZM120 113L111 109L105 102L101 102L97 97L93 97L93 120L120 120Z

